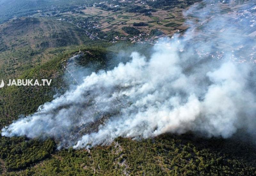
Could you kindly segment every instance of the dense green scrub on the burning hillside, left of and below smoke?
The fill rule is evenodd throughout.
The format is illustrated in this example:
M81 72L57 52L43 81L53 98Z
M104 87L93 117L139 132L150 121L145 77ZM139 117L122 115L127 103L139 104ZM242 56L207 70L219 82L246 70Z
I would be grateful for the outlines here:
M108 49L97 46L62 47L55 56L20 78L53 79L51 87L8 87L0 90L1 127L20 114L28 115L52 100L63 81L65 60L81 49L85 56L79 63L104 68ZM113 48L111 49L113 51ZM61 52L60 52L61 51ZM56 89L57 88L57 89ZM164 134L154 139L134 141L118 138L110 146L90 150L56 150L53 139L25 137L0 138L1 172L4 175L253 175L256 174L255 146L234 139L204 139L193 134Z

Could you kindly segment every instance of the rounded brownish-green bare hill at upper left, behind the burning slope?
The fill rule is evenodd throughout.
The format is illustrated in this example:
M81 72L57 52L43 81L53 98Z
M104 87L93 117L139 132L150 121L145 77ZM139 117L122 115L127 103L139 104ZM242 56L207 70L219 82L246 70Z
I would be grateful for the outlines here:
M0 76L18 76L49 60L51 49L88 41L83 29L54 19L17 18L0 24Z

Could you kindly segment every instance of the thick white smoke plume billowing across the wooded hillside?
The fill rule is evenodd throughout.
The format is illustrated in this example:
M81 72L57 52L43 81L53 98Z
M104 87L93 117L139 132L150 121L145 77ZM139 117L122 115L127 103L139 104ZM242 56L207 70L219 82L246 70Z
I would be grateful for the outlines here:
M218 21L212 18L209 23ZM200 34L191 28L187 38L159 41L150 58L133 52L129 62L93 72L75 89L6 126L1 134L50 136L60 147L88 148L110 144L119 136L140 139L191 131L228 138L239 129L253 133L254 65L232 61L250 53L236 55L230 49L237 43L252 49L253 43L231 34L227 30L214 41L196 42L193 36ZM228 46L222 36L228 38ZM218 40L221 50L215 47Z

